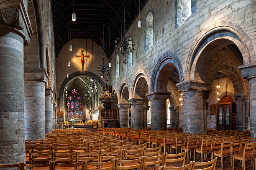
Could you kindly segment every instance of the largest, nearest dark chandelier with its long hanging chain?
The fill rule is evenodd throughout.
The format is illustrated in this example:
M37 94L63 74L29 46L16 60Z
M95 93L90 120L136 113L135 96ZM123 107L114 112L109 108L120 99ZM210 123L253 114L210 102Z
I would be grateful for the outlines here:
M117 41L120 41L120 45L117 45ZM115 39L115 47L118 47L118 50L121 51L121 54L125 57L123 60L124 64L127 64L127 55L130 55L130 52L135 50L134 43L129 36L126 36L125 30L125 0L123 0L123 39Z

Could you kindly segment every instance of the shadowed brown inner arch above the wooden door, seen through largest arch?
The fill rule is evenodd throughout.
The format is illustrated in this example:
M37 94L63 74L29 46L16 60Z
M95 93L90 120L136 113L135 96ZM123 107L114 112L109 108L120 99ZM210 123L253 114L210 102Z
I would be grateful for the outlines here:
M210 82L210 84L212 84L213 78L215 75L217 75L218 72L223 72L226 76L229 77L235 91L234 95L246 96L245 84L242 77L240 77L236 69L230 65L218 65L215 67L215 69L212 70L210 76L208 77L208 82Z

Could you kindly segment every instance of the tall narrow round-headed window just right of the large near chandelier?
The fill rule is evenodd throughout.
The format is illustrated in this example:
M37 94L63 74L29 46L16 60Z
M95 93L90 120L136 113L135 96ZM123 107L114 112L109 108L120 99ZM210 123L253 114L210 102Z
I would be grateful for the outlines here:
M145 40L145 50L150 50L154 45L154 23L153 23L153 14L148 13L146 18L146 40Z

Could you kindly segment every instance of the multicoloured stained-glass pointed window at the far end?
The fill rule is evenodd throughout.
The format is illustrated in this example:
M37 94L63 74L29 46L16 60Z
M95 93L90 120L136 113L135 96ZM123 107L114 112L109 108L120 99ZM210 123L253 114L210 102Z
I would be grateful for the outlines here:
M67 117L83 116L83 100L76 89L73 89L67 97Z

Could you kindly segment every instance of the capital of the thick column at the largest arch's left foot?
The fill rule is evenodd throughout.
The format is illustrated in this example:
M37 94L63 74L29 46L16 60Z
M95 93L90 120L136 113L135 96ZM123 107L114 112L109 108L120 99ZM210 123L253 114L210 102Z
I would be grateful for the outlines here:
M177 83L176 86L179 91L210 91L210 83L197 80L186 80Z

